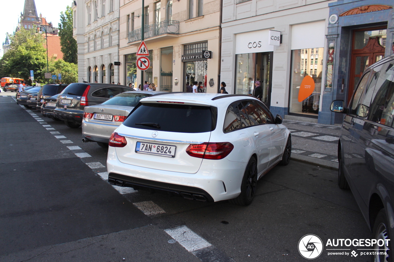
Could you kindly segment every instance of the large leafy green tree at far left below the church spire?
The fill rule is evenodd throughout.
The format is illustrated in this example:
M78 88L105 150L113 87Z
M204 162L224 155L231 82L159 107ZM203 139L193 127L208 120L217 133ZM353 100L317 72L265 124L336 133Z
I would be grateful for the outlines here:
M0 73L28 80L30 70L33 70L34 78L43 82L46 72L45 39L34 28L21 28L15 35L9 35L9 38L11 48L0 59Z

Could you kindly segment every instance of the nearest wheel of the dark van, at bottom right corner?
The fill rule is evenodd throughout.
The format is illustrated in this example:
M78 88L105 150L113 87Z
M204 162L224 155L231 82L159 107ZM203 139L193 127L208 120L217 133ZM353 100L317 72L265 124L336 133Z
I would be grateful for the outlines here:
M387 262L391 260L391 250L390 244L387 245L386 239L390 239L390 227L387 221L385 209L382 208L375 218L374 228L372 229L372 238L379 240L382 239L385 243L383 246L379 247L379 245L375 244L373 249L377 253L383 252L387 253L387 255L372 255L372 262ZM390 242L389 242L390 243Z

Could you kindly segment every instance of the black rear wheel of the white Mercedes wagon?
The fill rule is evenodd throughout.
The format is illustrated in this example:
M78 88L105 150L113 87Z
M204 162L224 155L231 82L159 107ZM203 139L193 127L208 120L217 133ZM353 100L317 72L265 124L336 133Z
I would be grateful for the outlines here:
M250 205L253 201L257 188L257 160L252 157L243 173L242 183L241 183L241 194L230 199L230 203L240 206Z

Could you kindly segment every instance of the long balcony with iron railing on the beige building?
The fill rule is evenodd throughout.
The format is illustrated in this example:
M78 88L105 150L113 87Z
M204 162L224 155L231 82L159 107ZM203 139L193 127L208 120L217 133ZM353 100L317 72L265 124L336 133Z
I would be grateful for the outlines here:
M145 25L144 39L149 39L156 36L161 36L160 40L164 38L176 37L179 35L179 21L164 20L160 23ZM128 43L141 41L141 28L128 33Z

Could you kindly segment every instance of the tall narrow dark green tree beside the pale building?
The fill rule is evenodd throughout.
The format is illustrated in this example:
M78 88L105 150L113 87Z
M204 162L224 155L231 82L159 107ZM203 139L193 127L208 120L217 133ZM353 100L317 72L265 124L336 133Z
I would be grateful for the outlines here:
M73 20L72 20L72 9L67 6L66 11L60 12L60 23L59 23L59 36L61 52L63 52L63 59L68 63L76 64L78 61L77 57L77 45L76 40L72 37Z

